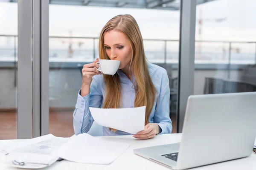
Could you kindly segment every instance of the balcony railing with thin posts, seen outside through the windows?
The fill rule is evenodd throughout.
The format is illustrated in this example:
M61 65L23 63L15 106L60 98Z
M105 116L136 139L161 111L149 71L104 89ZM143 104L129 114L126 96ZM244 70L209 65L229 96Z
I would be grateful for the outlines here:
M17 38L17 35L0 35L0 67L17 66ZM50 68L74 68L94 61L99 55L98 40L97 37L50 36ZM172 64L177 69L179 40L143 39L143 43L150 62ZM256 42L195 41L195 69L230 71L255 63Z

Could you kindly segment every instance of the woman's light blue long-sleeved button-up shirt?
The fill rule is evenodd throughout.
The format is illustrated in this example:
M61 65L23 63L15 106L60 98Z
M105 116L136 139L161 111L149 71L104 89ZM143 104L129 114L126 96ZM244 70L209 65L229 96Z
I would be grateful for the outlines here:
M172 132L172 121L169 117L169 101L170 101L170 88L169 78L164 68L151 64L148 62L148 70L152 82L157 89L157 96L149 116L149 123L157 123L160 126L160 134ZM118 70L117 74L120 77L120 85L122 88L122 108L134 108L135 89L133 83L135 77L128 79L128 77ZM78 92L76 109L73 113L73 125L75 134L87 133L92 126L94 119L91 116L89 107L102 108L105 97L105 90L103 89L103 76L93 76L93 81L90 85L90 94L82 97L80 95L81 89ZM103 86L103 87L102 87ZM148 91L150 93L150 91ZM158 99L158 101L157 101ZM104 136L113 135L131 135L120 130L113 132L108 127L103 127Z

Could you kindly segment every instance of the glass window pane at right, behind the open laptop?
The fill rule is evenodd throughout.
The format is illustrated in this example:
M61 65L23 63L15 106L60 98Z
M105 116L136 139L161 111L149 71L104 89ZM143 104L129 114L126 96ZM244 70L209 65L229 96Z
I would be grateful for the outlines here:
M255 5L215 0L197 6L195 94L256 91Z

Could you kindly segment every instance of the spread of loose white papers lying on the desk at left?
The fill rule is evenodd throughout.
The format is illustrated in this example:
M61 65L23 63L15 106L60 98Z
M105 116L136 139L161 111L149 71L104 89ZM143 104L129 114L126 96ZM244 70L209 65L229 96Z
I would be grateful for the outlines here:
M79 163L110 164L129 146L128 143L105 141L87 133L70 138L49 134L2 147L0 152L13 156L6 162L9 166L43 168L59 158Z

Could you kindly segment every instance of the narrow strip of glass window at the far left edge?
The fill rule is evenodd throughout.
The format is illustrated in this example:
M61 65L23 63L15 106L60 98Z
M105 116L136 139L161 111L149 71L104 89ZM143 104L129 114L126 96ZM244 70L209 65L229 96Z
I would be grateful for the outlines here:
M17 9L0 2L0 139L17 139Z

